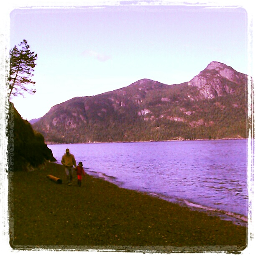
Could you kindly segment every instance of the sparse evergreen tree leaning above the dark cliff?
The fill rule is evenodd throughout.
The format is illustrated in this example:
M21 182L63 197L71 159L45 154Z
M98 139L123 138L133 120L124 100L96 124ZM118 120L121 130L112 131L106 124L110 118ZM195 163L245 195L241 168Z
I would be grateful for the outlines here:
M36 92L32 81L37 54L30 50L28 42L24 39L18 47L10 50L9 99L11 95L23 95L24 92Z

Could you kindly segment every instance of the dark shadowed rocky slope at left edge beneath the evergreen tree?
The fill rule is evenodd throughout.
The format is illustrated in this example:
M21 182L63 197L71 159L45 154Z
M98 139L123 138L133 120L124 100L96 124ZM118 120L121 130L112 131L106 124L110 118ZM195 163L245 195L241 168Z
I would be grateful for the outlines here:
M29 170L45 161L56 161L42 134L33 131L31 124L21 118L13 103L10 103L7 136L9 171Z

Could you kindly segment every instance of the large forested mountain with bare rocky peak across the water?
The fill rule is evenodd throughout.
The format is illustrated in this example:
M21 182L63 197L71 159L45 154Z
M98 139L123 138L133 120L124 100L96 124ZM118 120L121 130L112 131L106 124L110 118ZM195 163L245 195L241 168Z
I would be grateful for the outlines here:
M191 81L141 79L75 97L33 124L47 143L162 141L246 137L247 76L212 61Z

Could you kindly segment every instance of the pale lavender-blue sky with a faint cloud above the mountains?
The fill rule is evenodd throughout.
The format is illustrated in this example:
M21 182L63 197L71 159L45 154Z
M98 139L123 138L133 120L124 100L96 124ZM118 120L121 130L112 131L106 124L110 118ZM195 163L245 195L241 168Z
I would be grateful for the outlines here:
M245 8L122 3L10 11L10 49L26 39L38 54L36 93L11 99L24 119L139 79L188 82L211 61L248 74Z

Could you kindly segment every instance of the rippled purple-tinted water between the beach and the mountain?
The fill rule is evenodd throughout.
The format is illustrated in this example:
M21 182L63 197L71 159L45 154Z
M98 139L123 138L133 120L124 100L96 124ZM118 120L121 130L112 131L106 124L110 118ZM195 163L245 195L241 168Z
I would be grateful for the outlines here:
M247 140L48 145L119 187L146 192L246 225Z

